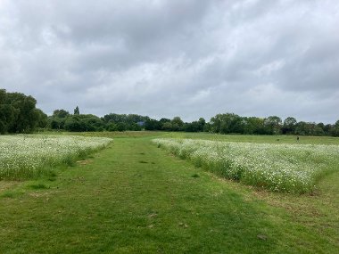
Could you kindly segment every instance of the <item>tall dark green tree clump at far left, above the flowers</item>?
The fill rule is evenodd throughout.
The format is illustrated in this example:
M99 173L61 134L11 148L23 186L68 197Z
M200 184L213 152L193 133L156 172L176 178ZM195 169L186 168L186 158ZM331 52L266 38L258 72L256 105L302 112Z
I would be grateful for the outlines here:
M0 133L29 133L45 127L47 115L32 96L0 89Z

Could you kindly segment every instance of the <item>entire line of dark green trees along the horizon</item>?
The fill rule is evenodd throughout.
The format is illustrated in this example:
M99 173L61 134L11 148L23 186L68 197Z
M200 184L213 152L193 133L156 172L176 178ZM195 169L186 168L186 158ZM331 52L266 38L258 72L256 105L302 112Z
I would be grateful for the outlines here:
M184 122L180 117L173 119L151 119L136 114L110 113L103 117L80 114L77 106L73 113L55 110L47 116L36 108L37 101L32 96L20 93L7 93L0 89L0 133L29 133L37 128L86 131L183 131L211 132L217 134L244 135L332 135L339 136L339 120L335 124L297 121L293 117L280 119L241 117L234 113L217 114L209 122L200 118Z

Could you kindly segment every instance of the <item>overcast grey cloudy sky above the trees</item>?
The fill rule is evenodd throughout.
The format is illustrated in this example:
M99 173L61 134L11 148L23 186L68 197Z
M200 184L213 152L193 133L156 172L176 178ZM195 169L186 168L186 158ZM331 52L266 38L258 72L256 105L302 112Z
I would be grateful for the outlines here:
M55 109L339 119L337 0L0 0L0 87Z

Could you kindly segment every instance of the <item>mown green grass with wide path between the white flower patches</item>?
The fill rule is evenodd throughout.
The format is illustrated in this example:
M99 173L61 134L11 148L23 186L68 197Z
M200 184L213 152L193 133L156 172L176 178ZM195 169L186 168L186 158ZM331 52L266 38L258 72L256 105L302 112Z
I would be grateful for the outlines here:
M152 143L178 137L296 143L294 136L83 135L113 142L54 168L53 176L0 181L0 253L339 252L339 165L312 193L274 193L196 168ZM339 139L300 143L339 145Z

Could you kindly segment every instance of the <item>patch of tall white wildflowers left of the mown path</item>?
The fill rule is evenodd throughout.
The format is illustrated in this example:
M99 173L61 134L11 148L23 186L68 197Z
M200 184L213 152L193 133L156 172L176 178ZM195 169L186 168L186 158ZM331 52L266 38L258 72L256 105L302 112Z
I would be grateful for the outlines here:
M71 165L111 141L74 135L0 135L0 180L48 174L55 166Z

